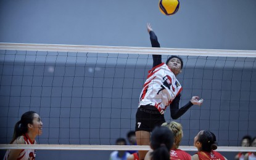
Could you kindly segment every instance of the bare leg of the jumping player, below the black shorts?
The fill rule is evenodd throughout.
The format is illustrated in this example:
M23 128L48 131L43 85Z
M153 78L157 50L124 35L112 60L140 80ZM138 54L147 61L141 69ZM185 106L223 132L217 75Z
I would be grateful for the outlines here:
M151 133L144 131L144 130L139 130L135 132L136 134L136 141L137 145L150 145L150 137ZM139 159L144 159L147 154L147 151L139 151Z

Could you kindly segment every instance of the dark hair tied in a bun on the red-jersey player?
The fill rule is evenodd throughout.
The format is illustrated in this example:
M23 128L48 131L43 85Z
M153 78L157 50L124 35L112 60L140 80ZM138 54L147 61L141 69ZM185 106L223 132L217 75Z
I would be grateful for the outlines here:
M217 149L216 137L210 131L204 130L202 134L199 134L198 141L202 143L202 151L210 152Z

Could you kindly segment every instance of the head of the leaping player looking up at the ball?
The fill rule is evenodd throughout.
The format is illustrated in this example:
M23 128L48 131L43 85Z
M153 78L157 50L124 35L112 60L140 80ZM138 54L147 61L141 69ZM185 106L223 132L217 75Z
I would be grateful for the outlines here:
M166 64L175 75L181 73L181 70L183 68L183 60L181 57L171 55L171 57L167 59Z

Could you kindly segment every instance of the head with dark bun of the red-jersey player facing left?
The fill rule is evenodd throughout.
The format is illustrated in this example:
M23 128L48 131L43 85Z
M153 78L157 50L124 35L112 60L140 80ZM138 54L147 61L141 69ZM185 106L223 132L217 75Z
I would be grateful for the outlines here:
M194 138L194 146L196 146L199 151L210 152L216 150L216 137L210 131L201 130Z

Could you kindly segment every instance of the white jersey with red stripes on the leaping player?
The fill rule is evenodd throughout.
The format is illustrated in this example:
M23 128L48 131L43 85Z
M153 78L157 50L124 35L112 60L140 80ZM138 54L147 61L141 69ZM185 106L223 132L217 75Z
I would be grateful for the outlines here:
M149 71L141 92L139 106L152 105L163 114L181 90L182 87L175 74L165 63L161 63Z

